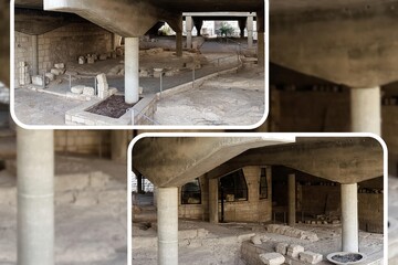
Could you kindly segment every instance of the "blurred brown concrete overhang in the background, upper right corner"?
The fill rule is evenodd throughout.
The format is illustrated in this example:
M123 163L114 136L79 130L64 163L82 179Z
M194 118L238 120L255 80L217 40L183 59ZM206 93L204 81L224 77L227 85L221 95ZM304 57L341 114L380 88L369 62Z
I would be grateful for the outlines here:
M398 78L397 1L274 0L270 10L273 63L359 88Z

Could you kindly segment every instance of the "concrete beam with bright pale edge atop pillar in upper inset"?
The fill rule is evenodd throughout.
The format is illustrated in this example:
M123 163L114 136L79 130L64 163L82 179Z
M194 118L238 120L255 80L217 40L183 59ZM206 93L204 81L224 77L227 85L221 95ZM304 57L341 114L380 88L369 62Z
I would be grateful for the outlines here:
M159 20L174 17L148 1L44 0L44 10L78 14L126 38L144 35Z

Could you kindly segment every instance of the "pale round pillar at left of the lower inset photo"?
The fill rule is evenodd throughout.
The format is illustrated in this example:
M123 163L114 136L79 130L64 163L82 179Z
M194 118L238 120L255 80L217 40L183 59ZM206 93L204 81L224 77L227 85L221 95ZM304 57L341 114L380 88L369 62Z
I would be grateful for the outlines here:
M178 188L157 189L158 265L178 265Z

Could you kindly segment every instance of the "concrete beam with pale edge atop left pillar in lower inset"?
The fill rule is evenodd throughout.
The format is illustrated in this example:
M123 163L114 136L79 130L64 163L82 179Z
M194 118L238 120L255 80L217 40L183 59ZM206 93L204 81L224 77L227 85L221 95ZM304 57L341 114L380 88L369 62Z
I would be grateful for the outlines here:
M157 187L179 187L243 151L294 141L293 137L157 137L133 147L133 168Z

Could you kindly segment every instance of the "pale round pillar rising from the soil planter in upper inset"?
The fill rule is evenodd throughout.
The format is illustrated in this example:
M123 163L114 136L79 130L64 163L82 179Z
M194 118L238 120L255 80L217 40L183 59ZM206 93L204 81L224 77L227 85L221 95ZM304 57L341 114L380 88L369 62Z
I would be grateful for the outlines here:
M125 38L125 102L139 99L139 39Z

